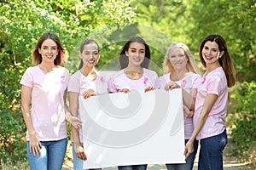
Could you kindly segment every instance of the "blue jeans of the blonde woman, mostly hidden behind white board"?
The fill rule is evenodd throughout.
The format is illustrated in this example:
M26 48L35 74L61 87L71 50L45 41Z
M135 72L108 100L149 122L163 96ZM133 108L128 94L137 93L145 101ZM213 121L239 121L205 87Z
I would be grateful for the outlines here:
M187 144L188 141L189 139L185 139L185 144ZM189 155L186 163L166 164L167 169L168 170L192 170L194 166L195 155L198 148L198 140L195 140L193 145L194 145L194 151Z

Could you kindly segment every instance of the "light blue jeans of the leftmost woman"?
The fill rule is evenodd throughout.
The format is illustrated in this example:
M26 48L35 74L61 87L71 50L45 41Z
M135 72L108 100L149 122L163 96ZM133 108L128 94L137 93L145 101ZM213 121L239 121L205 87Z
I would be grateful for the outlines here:
M31 170L61 170L67 150L67 138L40 142L40 156L34 156L29 151L29 141L26 142L26 156Z

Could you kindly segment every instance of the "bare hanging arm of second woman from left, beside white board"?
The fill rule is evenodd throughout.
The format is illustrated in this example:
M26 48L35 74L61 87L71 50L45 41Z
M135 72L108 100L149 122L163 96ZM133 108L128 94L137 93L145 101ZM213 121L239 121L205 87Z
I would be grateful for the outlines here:
M68 92L68 101L69 101L69 109L73 116L78 116L78 109L79 109L79 94L75 92ZM86 160L87 157L84 152L84 148L81 145L79 139L79 127L71 126L71 131L73 135L73 147L75 150L76 155L82 159Z

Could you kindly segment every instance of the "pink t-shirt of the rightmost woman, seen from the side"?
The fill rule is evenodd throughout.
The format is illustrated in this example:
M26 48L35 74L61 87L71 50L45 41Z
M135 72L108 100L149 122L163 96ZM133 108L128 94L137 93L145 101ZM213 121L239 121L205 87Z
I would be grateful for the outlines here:
M212 106L212 110L207 116L207 121L201 128L196 139L205 139L223 133L226 127L225 117L228 105L228 85L222 67L211 71L207 76L203 76L201 86L198 88L195 100L194 126L201 114L207 94L216 94L218 99Z

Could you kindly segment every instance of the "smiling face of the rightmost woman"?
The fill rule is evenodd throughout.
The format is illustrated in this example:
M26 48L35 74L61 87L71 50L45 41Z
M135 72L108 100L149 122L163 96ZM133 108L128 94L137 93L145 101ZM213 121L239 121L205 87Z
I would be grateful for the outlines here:
M222 57L223 52L219 51L218 43L207 41L202 48L202 57L207 66L220 65L218 59Z

